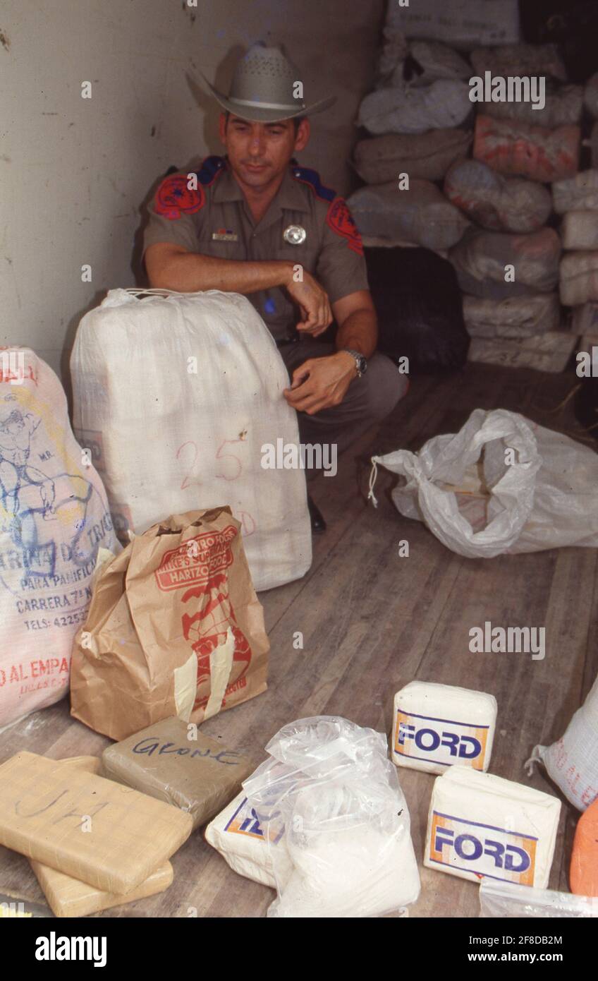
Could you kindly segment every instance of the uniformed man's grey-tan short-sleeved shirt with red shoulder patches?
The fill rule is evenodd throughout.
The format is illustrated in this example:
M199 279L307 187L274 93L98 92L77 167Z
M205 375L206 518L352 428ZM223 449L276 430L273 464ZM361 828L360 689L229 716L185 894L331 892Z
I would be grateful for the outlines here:
M188 175L165 178L150 205L144 248L174 242L190 252L244 261L290 260L324 286L330 302L368 289L361 236L342 197L324 187L316 171L291 161L262 220L255 223L243 192L223 157L208 157L197 171L197 189ZM293 244L284 237L296 226ZM300 316L282 287L249 293L247 298L277 341L294 335Z

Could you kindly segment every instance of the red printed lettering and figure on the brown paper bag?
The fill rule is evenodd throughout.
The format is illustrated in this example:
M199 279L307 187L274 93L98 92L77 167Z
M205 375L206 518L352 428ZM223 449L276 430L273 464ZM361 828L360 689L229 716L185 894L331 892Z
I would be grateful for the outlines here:
M198 600L193 604L196 611L185 612L181 617L183 637L197 655L198 693L194 709L205 707L208 702L209 686L202 694L199 689L209 683L210 654L225 643L228 629L234 637L234 652L224 697L247 684L244 675L251 661L251 647L237 626L226 575L226 569L232 565L230 542L236 534L236 529L228 525L222 532L205 532L188 539L166 552L155 572L161 590L184 588L181 602Z

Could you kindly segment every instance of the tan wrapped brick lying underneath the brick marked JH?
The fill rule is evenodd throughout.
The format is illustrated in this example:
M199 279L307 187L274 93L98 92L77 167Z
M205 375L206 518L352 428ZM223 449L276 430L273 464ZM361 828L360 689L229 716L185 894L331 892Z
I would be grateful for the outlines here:
M57 759L56 762L84 773L97 773L101 760L99 756L70 756L68 759ZM148 896L155 896L156 893L163 893L174 878L173 866L167 861L140 886L131 889L125 896L119 896L117 893L105 893L33 858L29 858L29 864L55 916L89 916L90 913L97 913L102 909L143 900Z

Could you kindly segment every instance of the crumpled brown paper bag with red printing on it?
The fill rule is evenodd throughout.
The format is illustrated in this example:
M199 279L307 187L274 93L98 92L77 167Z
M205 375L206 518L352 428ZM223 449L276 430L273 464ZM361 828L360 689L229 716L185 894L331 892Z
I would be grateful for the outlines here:
M230 509L174 514L99 570L71 711L116 740L172 715L202 722L266 691L269 649Z

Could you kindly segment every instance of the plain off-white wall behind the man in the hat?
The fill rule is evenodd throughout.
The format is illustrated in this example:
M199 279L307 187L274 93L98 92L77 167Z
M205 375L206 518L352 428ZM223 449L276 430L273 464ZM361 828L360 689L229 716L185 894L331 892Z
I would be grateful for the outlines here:
M313 118L301 161L344 193L384 0L4 0L0 13L1 344L66 379L81 315L139 275L142 205L171 165L220 152L218 107L184 73L227 87L236 56L282 41ZM81 82L92 82L82 99ZM89 263L92 283L82 283Z

